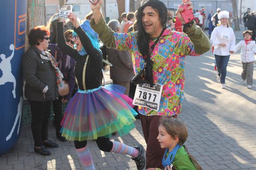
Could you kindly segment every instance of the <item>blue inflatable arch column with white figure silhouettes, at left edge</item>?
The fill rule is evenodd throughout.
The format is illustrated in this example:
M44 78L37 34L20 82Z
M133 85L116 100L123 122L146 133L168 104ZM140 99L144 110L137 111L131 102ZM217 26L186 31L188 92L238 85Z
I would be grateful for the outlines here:
M0 154L16 144L21 131L26 7L26 0L1 0Z

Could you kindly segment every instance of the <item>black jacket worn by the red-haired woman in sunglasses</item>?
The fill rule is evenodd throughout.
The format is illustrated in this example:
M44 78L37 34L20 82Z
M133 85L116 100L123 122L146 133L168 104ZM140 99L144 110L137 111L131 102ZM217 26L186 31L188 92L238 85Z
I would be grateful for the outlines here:
M23 76L26 81L24 95L29 100L49 101L58 99L58 86L55 69L50 60L42 59L38 48L30 46L23 55ZM43 89L48 86L44 95Z

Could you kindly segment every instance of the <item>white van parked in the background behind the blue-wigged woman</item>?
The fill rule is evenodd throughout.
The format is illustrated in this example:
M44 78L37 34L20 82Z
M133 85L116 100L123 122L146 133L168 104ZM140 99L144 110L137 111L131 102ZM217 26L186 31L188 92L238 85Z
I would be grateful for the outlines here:
M73 13L81 20L91 11L89 0L67 0L66 5L73 5ZM118 6L116 0L106 1L106 17L110 20L118 20Z

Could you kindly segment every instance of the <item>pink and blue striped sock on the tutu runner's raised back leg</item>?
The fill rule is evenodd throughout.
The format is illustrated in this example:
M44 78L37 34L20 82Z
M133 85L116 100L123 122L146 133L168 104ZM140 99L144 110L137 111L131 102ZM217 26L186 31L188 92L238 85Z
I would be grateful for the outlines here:
M138 155L139 150L135 149L134 147L130 147L126 144L114 141L113 147L110 152L121 153L121 154L130 155L132 157L135 157Z

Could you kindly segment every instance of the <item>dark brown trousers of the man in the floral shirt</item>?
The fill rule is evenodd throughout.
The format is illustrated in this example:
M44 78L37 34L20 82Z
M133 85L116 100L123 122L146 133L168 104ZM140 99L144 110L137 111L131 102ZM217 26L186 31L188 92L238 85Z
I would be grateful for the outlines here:
M177 117L177 115L173 116ZM143 135L147 144L146 150L146 169L148 168L163 168L162 159L165 149L160 147L157 140L158 122L161 116L145 116L140 115Z

